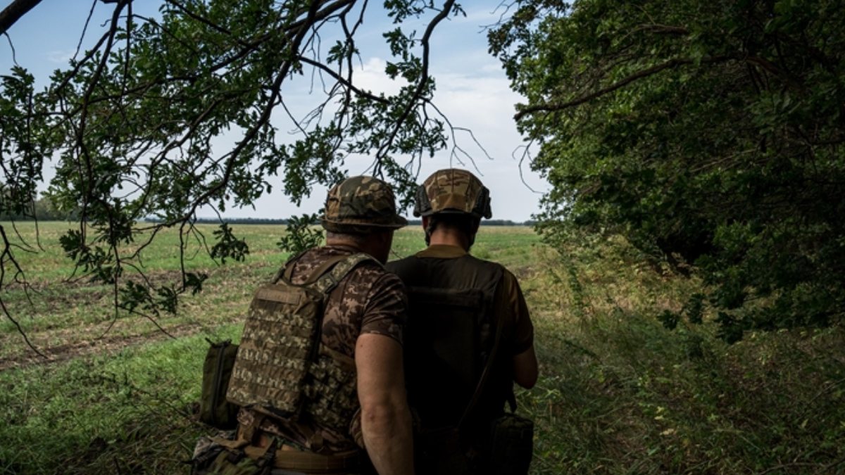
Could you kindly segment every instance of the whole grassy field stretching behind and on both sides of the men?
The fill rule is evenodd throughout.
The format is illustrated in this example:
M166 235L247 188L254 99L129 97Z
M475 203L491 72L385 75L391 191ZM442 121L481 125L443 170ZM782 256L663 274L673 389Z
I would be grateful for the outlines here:
M210 279L158 320L170 337L139 317L112 322L108 289L67 280L55 250L64 226L42 225L46 252L26 256L31 303L3 290L52 359L0 322L0 473L187 473L208 430L192 416L204 339L237 340L255 285L286 259L275 248L283 227L236 226L251 249L243 263L197 254L190 265ZM166 280L175 237L162 238L144 262ZM397 233L396 256L420 248L420 230ZM710 325L665 330L657 314L700 284L617 240L553 249L528 228L485 227L473 254L514 271L532 309L542 375L518 395L537 425L532 473L845 473L842 330L733 346Z

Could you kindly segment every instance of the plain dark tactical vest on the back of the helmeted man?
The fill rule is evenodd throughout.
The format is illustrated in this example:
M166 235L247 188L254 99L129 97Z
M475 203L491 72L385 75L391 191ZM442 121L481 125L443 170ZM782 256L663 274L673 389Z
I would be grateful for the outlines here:
M455 259L412 256L387 268L400 276L408 292L404 354L409 404L422 429L456 426L493 347L499 314L493 300L504 270L469 254ZM503 412L513 381L504 353L498 353L492 377L472 402L467 427L478 428Z

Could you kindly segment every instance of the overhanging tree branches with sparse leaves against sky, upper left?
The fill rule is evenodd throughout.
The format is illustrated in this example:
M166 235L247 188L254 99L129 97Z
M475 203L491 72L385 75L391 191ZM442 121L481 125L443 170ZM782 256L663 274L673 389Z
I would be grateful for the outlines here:
M16 0L0 14L0 32L35 3ZM116 317L153 319L202 288L207 276L184 270L180 281L151 281L139 261L165 228L180 233L180 259L192 238L204 242L194 227L200 208L251 205L279 173L298 204L314 183L340 179L352 155L372 156L373 174L397 183L407 203L412 166L449 144L450 124L432 103L428 41L462 13L455 0L384 2L395 95L356 85L356 35L373 14L366 1L164 0L155 18L135 14L131 0L94 4L112 8L111 19L46 90L17 66L3 76L0 216L35 214L44 161L56 156L48 197L79 212L63 249L80 273L113 287ZM411 20L424 30L406 26ZM316 106L294 117L282 91L300 76L311 78ZM292 143L278 134L280 116L297 128ZM230 149L215 147L221 134L236 138ZM0 238L2 291L25 281L15 255L34 247L13 243L3 226ZM225 261L243 259L248 247L221 225L208 250Z

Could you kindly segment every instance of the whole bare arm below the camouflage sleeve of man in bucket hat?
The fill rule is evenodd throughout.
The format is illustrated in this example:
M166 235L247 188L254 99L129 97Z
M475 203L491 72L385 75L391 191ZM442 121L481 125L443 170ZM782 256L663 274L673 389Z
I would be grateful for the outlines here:
M377 334L358 336L355 347L361 429L380 475L413 473L411 411L405 393L402 347Z

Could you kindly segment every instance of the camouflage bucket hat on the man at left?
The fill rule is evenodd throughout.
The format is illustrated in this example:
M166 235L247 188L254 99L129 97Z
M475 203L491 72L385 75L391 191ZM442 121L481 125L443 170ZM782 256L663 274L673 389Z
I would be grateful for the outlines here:
M390 185L374 177L351 177L329 190L323 227L330 232L399 229L408 221L396 213Z

